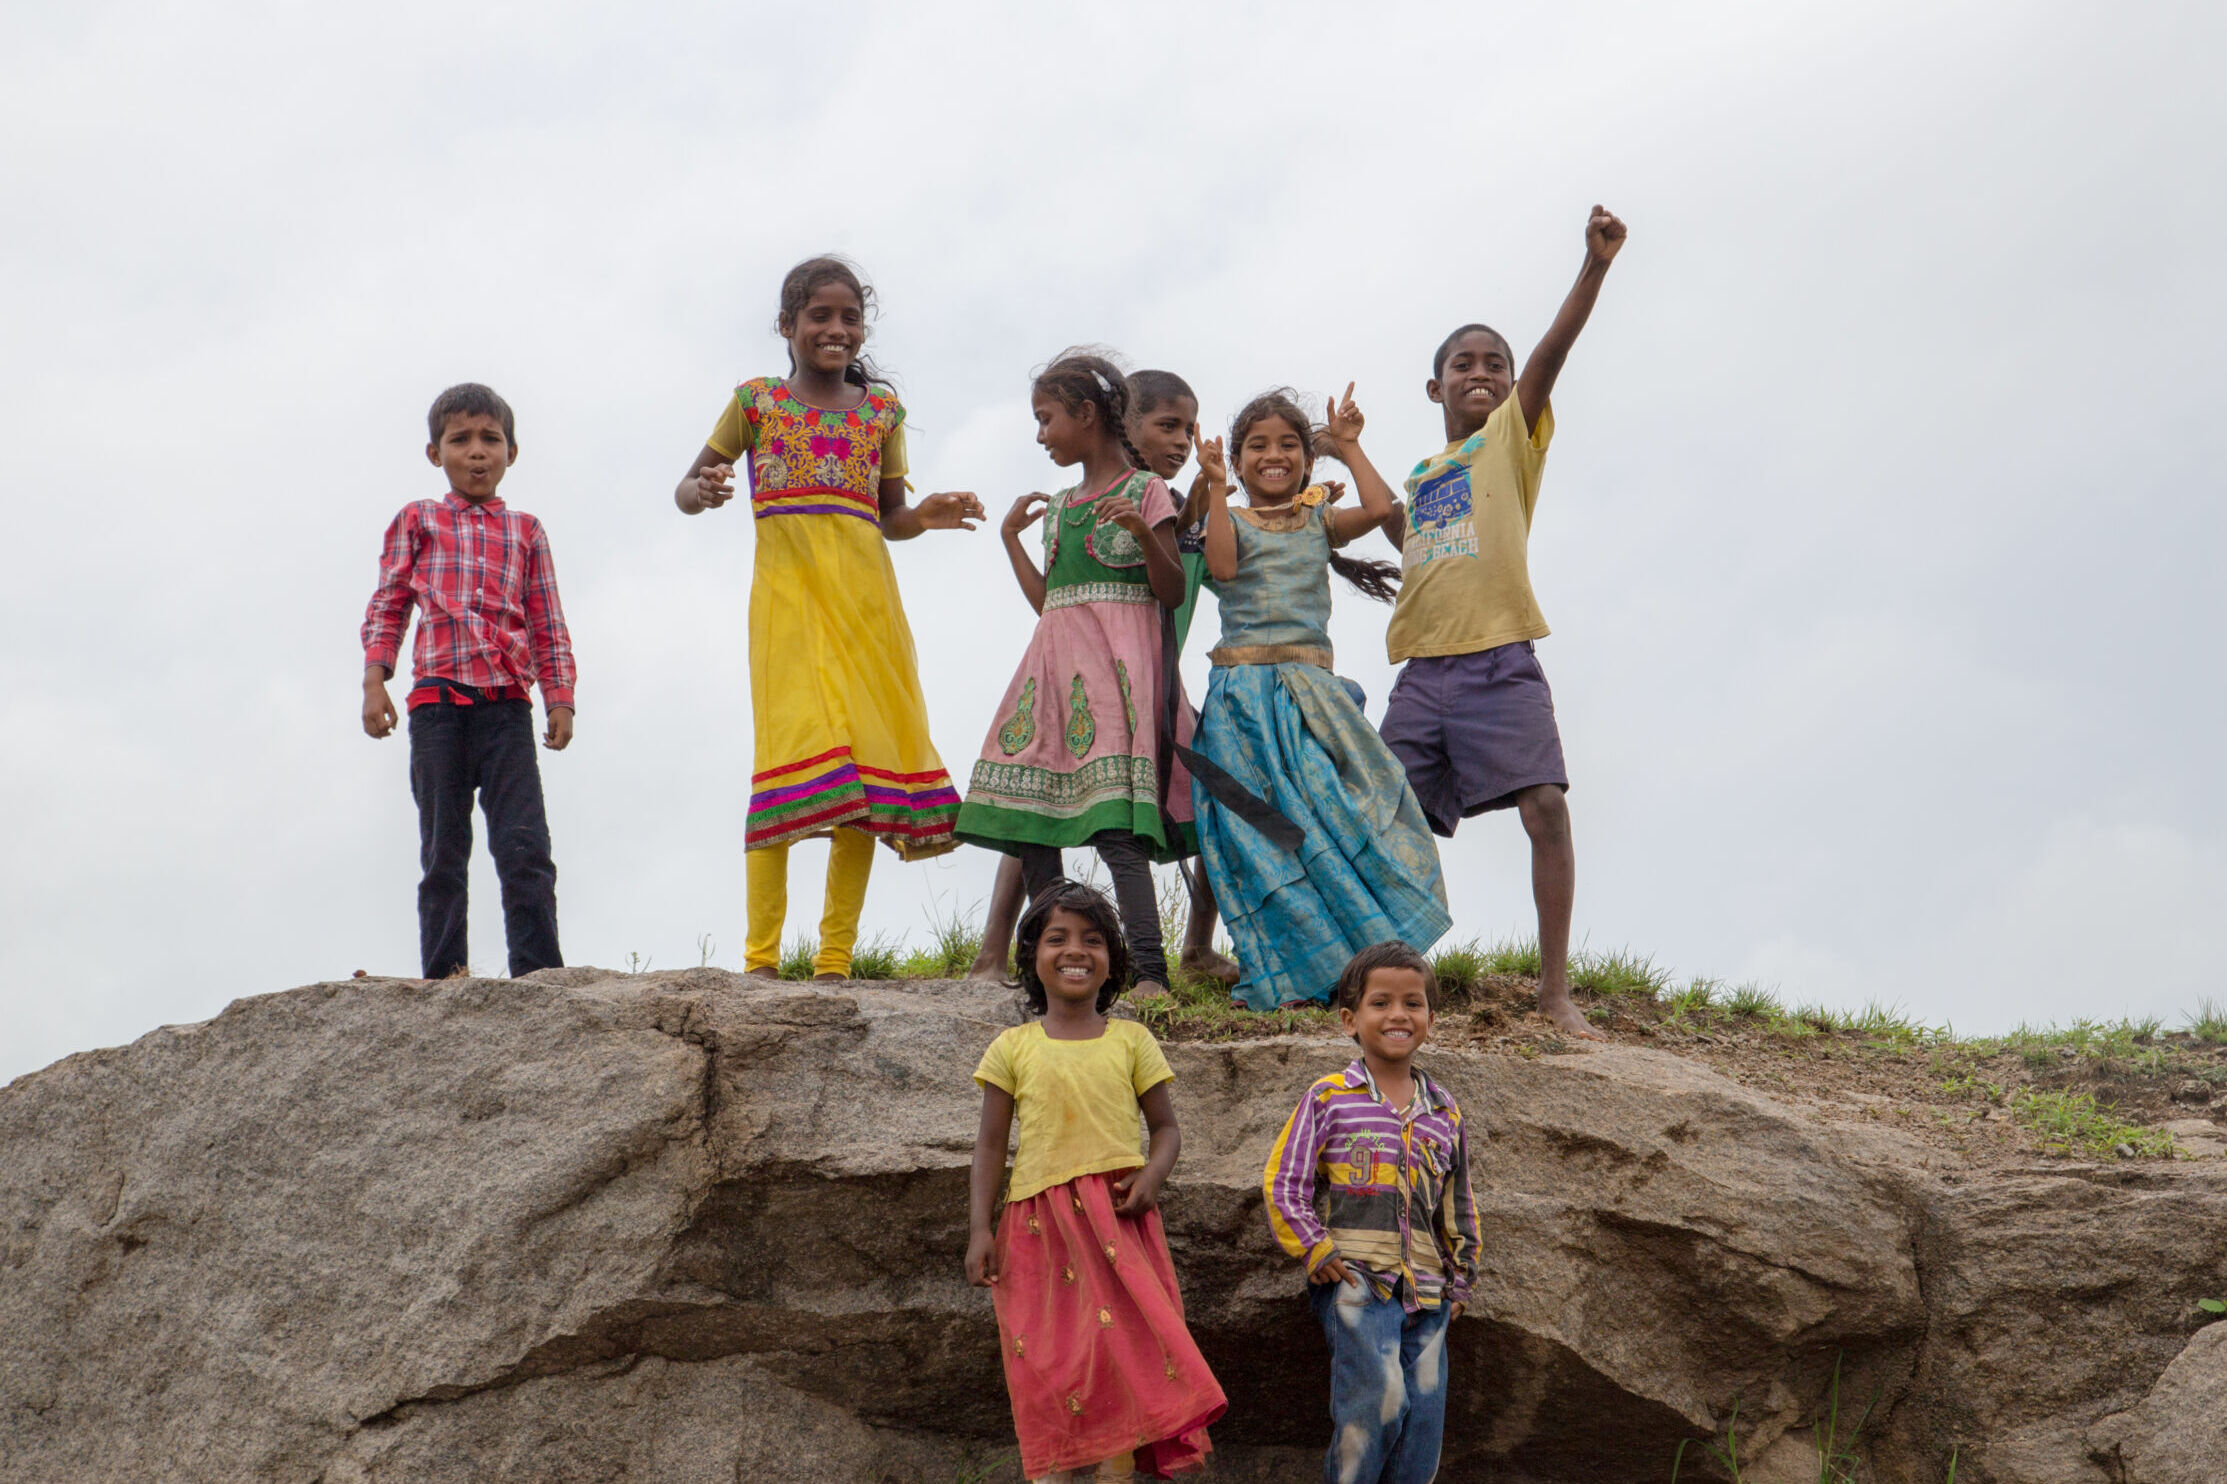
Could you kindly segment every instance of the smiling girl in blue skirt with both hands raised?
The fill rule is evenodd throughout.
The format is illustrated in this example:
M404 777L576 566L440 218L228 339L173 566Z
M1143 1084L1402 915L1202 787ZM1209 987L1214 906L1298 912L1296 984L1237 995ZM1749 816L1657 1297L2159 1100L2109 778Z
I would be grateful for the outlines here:
M1354 388L1316 428L1289 390L1254 397L1229 426L1247 504L1229 504L1220 439L1200 441L1207 573L1223 613L1191 767L1198 858L1220 900L1247 1009L1325 1003L1372 943L1436 943L1452 918L1439 847L1399 758L1332 673L1330 570L1390 602L1399 570L1336 548L1392 515L1361 452ZM1358 510L1334 510L1314 452L1345 463Z

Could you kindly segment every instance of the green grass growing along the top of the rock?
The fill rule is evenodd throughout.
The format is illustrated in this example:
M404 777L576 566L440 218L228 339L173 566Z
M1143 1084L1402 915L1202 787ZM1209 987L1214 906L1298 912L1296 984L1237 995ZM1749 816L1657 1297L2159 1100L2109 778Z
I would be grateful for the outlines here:
M1160 925L1174 983L1165 994L1131 994L1129 1009L1162 1041L1252 1041L1336 1034L1327 1007L1238 1009L1229 989L1176 965L1189 894L1171 873L1160 882ZM1229 951L1229 943L1218 945ZM817 943L791 938L782 978L811 978ZM926 940L875 934L851 958L866 980L962 978L982 951L980 902L973 911L938 905ZM699 958L710 940L699 943ZM1432 1041L1445 1047L1521 1058L1574 1045L1537 1014L1539 943L1470 938L1430 954L1443 987ZM650 965L630 958L637 972ZM1011 972L1011 963L1007 965ZM1708 1061L1735 1081L1775 1094L1857 1105L1860 1116L1900 1119L1958 1150L2002 1156L2174 1159L2182 1154L2162 1123L2227 1107L2227 1003L2200 1000L2185 1029L2140 1021L2020 1025L2002 1036L1958 1036L1926 1025L1902 1005L1862 1009L1788 1003L1775 989L1713 978L1679 983L1652 956L1632 949L1579 949L1570 987L1586 1018L1612 1041L1655 1045ZM2227 1141L2227 1125L2218 1127Z

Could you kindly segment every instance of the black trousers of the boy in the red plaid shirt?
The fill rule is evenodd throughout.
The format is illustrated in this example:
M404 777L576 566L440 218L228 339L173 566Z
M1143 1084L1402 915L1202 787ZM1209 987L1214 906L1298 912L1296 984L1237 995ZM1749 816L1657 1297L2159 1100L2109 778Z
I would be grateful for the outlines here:
M523 700L436 702L410 713L410 795L419 804L419 958L425 978L465 967L472 793L488 813L488 853L503 882L510 974L563 965L557 862L534 762L534 706Z

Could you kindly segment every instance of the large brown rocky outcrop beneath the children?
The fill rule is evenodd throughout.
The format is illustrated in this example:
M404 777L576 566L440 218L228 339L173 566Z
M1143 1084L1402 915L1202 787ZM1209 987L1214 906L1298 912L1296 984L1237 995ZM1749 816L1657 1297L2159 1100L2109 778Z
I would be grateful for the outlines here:
M967 1074L1013 1018L717 969L352 980L24 1076L0 1477L1013 1477L960 1272ZM1318 1468L1323 1344L1258 1181L1345 1054L1169 1047L1223 1480ZM1966 1484L2227 1477L2227 1330L2189 1341L2227 1288L2216 1165L1929 1168L1632 1047L1432 1070L1485 1219L1443 1480L1666 1477L1735 1404L1750 1457L1799 1457L1835 1366L1882 1480L1951 1448Z

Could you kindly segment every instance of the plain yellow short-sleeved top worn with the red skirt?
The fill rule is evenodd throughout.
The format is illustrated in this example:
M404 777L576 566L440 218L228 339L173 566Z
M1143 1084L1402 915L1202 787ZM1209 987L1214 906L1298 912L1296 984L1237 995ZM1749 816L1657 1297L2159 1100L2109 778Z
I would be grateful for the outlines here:
M1107 1021L1096 1041L1053 1041L1042 1021L1000 1032L975 1081L1013 1094L1020 1150L1007 1201L1065 1185L1078 1174L1145 1163L1138 1099L1174 1081L1167 1056L1136 1021Z

